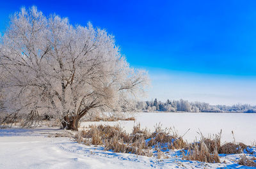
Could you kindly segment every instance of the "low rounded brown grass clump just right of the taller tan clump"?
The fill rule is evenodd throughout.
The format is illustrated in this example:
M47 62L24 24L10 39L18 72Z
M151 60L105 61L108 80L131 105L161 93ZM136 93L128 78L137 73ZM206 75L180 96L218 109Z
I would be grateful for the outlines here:
M243 150L246 149L246 147L248 147L247 145L245 145L244 143L225 143L223 145L221 145L220 154L241 154L243 153Z

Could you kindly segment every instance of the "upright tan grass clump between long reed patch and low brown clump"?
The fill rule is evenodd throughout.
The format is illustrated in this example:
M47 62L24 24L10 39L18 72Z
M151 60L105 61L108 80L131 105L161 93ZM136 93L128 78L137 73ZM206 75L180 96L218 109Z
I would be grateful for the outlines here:
M187 155L185 155L183 152L182 159L202 161L206 163L220 163L217 149L215 149L214 152L211 153L204 142L200 143L200 146L195 143L193 150L188 149Z

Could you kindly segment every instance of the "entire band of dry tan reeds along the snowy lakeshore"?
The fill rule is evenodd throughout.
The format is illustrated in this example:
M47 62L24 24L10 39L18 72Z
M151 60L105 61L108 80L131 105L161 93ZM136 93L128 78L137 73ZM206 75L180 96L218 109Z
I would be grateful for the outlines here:
M218 154L239 154L247 147L243 143L236 143L235 140L234 143L221 145L221 132L208 138L205 138L201 131L199 134L199 142L188 144L177 134L175 128L162 128L160 124L155 126L153 133L147 128L141 129L140 124L137 124L131 134L126 133L120 126L92 125L87 131L79 132L76 139L86 145L103 145L106 151L132 153L137 156L154 155L158 159L168 158L168 149L182 149L187 152L183 152L182 159L207 163L220 163ZM246 159L242 158L240 163L247 163Z

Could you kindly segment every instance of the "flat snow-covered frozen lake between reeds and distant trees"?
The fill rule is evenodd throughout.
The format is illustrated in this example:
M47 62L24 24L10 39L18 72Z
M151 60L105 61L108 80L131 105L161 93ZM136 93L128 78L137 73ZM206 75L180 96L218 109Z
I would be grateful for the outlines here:
M147 127L154 131L154 126L159 122L163 128L175 127L179 135L184 136L188 142L199 139L198 131L204 136L220 133L222 129L221 142L232 142L234 131L236 142L248 145L256 141L256 114L231 114L231 113L137 113L136 121L119 122L83 122L82 126L90 124L120 124L127 132L132 131L134 124L140 123L141 128Z

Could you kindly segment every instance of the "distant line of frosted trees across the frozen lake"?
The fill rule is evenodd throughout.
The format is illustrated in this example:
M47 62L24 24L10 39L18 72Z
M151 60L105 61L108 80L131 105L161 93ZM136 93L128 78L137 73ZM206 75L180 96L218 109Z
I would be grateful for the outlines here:
M226 105L209 105L204 102L189 102L184 99L169 100L166 102L157 101L139 101L136 108L143 112L244 112L256 113L256 106L236 104L233 106Z

